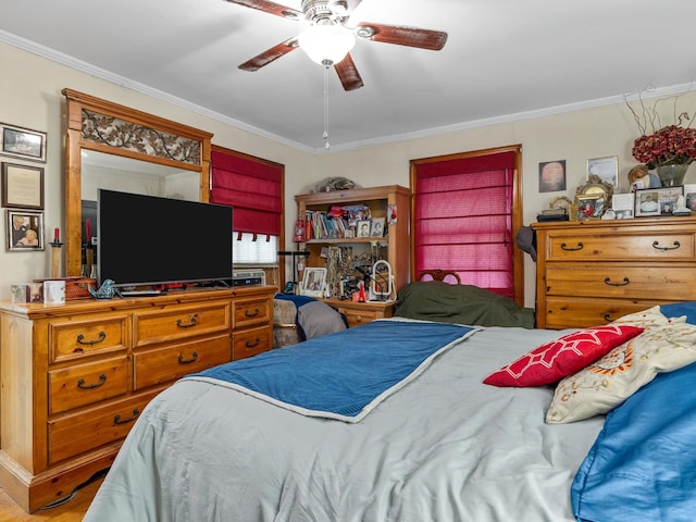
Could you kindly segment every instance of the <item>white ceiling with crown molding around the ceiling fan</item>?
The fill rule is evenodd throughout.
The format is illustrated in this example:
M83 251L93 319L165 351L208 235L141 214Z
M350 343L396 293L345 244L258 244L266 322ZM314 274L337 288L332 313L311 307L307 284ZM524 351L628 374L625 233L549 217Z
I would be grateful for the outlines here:
M693 0L363 0L351 25L449 37L442 51L359 40L364 87L330 71L331 151L691 89L694 20ZM0 2L0 41L320 153L323 67L298 49L237 69L302 24L224 0Z

